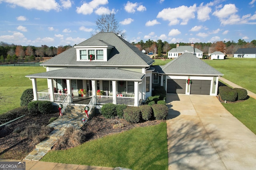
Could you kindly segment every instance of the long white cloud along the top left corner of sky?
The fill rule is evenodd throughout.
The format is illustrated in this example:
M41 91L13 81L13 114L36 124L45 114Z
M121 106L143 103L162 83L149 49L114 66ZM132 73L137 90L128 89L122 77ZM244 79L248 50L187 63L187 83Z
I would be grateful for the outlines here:
M56 10L60 11L60 5L55 0L1 0L12 4L12 6L21 6L26 9L36 9L42 11Z

